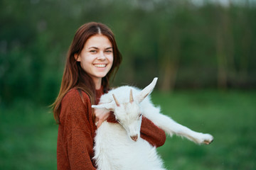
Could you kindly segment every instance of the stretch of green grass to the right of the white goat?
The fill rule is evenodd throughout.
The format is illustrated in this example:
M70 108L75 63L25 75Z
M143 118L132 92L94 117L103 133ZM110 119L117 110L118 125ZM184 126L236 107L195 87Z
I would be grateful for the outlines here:
M168 169L256 169L255 91L186 91L153 94L163 113L213 135L210 145L169 137L159 148Z

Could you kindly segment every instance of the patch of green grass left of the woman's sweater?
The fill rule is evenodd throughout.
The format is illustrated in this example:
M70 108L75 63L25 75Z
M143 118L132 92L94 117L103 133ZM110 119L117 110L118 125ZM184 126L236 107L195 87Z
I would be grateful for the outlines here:
M0 169L57 169L58 125L47 107L18 101L1 108L0 130Z

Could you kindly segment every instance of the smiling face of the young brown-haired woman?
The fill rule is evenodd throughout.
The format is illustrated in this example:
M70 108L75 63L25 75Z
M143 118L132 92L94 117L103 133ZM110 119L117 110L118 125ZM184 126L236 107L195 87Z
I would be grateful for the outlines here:
M92 77L95 84L101 83L113 64L112 43L105 35L93 35L86 42L80 55L75 55L82 69Z

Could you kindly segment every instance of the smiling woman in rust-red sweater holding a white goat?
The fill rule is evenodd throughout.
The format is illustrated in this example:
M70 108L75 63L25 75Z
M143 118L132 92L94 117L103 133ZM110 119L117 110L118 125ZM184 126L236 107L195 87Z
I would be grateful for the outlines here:
M110 77L117 72L121 60L114 34L104 24L86 23L75 33L60 93L53 103L54 118L59 124L58 169L95 169L92 162L95 130L103 121L114 122L114 119L108 111L92 111L91 105L107 93ZM164 131L146 118L142 120L141 133L151 145L164 145Z

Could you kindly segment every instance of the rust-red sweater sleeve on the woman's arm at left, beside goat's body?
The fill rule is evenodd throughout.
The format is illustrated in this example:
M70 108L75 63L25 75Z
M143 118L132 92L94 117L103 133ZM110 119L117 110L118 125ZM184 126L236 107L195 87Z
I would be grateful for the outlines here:
M90 99L83 95L82 103L77 90L72 90L63 98L60 112L58 147L63 153L58 155L58 169L88 169L95 167L93 157L93 130L90 123ZM62 148L61 148L62 147ZM68 164L61 168L62 164ZM68 167L68 168L67 168Z

